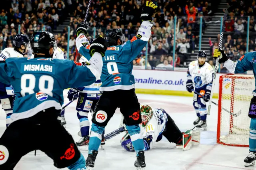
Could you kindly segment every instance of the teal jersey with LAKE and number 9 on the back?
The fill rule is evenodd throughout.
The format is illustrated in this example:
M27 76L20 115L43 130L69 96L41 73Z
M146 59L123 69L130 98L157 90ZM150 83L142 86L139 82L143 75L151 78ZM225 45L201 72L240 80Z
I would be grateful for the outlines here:
M143 21L137 36L122 45L108 47L103 57L102 85L100 91L114 91L117 89L130 90L135 88L134 76L132 75L132 61L145 47L151 35L149 21ZM76 46L80 54L90 59L88 40L84 34L76 38Z

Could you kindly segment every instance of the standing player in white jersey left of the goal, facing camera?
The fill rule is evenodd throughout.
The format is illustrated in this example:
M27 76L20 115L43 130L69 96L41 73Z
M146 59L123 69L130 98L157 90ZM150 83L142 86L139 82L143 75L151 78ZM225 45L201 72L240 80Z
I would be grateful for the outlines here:
M198 51L197 58L198 60L192 61L188 65L186 89L190 93L195 90L204 96L202 97L194 93L193 106L198 118L193 124L198 130L207 130L206 102L209 101L212 91L213 69L212 66L206 62L207 54L205 51Z

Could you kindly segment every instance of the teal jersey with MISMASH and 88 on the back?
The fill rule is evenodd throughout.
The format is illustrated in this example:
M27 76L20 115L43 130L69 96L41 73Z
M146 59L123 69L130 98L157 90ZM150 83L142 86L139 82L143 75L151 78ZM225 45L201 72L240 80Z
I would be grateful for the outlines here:
M11 121L32 117L50 107L61 109L64 89L87 86L100 77L102 56L99 53L97 59L101 61L99 69L93 62L83 67L61 59L8 58L1 61L0 82L11 84L16 94Z

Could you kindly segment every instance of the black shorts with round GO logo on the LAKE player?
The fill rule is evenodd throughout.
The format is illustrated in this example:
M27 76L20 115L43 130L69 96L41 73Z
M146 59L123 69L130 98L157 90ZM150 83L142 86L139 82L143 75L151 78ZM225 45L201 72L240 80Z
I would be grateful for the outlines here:
M104 91L92 115L92 122L105 127L117 108L120 108L126 125L141 123L140 103L135 89Z

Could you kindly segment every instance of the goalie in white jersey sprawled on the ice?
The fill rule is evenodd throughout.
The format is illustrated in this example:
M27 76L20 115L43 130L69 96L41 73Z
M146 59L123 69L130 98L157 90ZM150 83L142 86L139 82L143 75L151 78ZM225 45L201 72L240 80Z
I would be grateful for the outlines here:
M199 144L200 131L188 130L187 132L180 132L180 129L164 109L141 105L140 113L142 117L142 127L140 130L143 134L145 150L150 150L153 142L160 141L163 136L165 136L169 142L176 143L176 148L183 148L183 150L189 150L192 144ZM125 150L134 151L128 132L126 132L121 142Z

